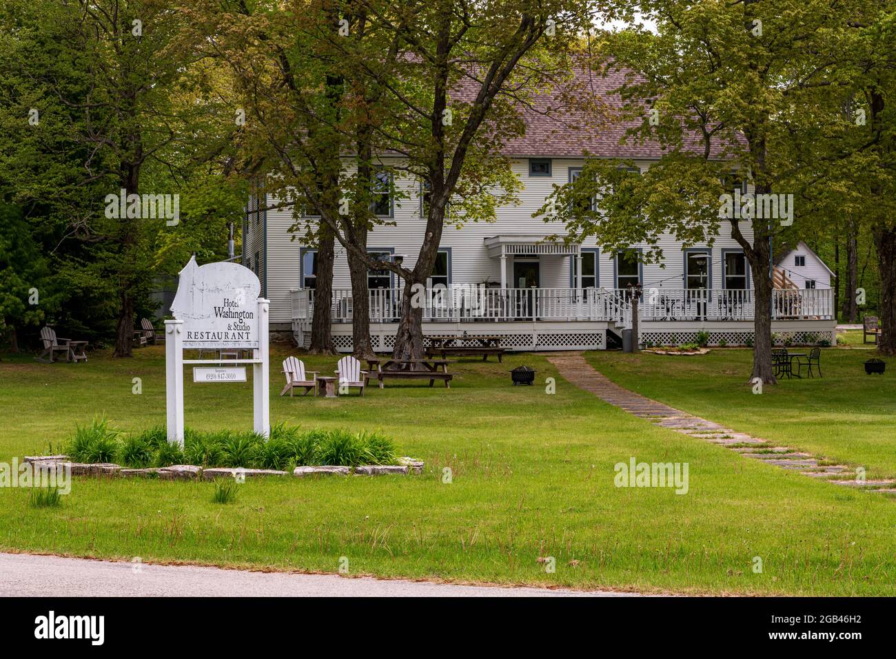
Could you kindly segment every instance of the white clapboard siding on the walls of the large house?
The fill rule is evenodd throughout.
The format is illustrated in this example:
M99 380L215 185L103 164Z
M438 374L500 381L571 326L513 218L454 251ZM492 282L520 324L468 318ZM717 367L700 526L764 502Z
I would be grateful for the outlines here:
M553 184L566 184L569 181L570 168L582 167L581 158L553 158L551 176L530 176L529 160L520 158L513 162L513 170L520 177L524 188L519 193L518 205L505 206L498 210L495 222L469 222L460 229L450 221L444 227L442 248L451 249L451 276L453 284L475 284L486 280L501 281L500 259L489 258L483 241L487 237L499 234L524 235L563 235L564 227L560 223L546 223L541 218L533 218L532 213L538 210L547 196L552 192ZM642 169L649 166L649 161L638 163ZM418 181L409 178L396 180L396 185L409 190L409 199L395 201L394 227L374 227L368 236L370 251L391 251L403 254L404 265L412 268L417 260L426 221L420 217L418 198ZM269 199L269 203L271 199ZM399 205L401 204L401 205ZM251 217L251 213L250 213ZM291 210L269 210L267 212L267 269L263 279L267 282L267 296L271 300L271 322L288 323L290 321L289 290L300 286L299 252L302 246L301 235L291 240L289 227L294 218ZM253 225L253 232L262 232L261 225ZM752 239L752 231L748 222L742 222L741 230L747 239ZM723 249L739 249L730 229L723 222L720 234L712 247L712 286L722 287L721 254ZM254 256L254 242L251 251ZM596 241L591 238L582 247L595 247ZM671 235L663 236L660 246L665 256L666 268L659 264L645 263L643 281L652 286L683 287L682 273L684 256L681 246ZM641 245L633 245L638 247ZM701 245L695 245L701 246ZM261 250L263 253L264 251ZM542 256L540 261L541 287L569 287L572 257ZM508 286L513 282L513 257L506 260ZM260 274L261 276L261 274ZM394 282L393 282L394 283ZM613 259L608 254L599 254L599 286L616 287L614 280ZM349 266L345 250L337 243L336 261L333 268L333 287L348 288L351 286Z

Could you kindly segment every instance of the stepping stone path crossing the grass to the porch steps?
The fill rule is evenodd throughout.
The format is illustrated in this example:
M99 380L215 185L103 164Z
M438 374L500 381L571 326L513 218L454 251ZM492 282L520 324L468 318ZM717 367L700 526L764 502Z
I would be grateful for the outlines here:
M746 458L762 460L763 464L792 469L800 474L823 478L828 483L858 487L868 492L896 493L896 480L859 480L853 467L846 465L819 465L818 458L809 453L786 446L775 446L770 441L755 438L745 432L737 432L699 416L690 415L675 407L620 387L605 375L596 371L582 357L582 353L555 353L547 357L567 381L576 387L590 391L610 405L647 419L654 425L681 432L699 440L727 446ZM849 477L850 480L845 480Z

